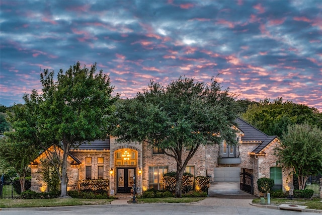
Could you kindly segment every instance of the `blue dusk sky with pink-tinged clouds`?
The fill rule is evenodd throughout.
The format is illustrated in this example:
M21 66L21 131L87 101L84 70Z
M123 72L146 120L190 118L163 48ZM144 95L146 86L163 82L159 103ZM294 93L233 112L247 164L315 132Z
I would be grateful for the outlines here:
M0 2L0 104L41 92L44 69L97 63L114 93L153 80L209 83L237 99L322 112L322 1ZM56 77L56 76L55 76Z

